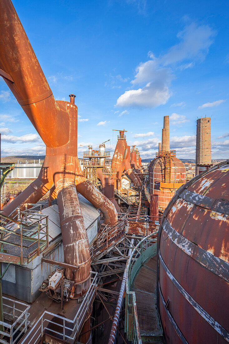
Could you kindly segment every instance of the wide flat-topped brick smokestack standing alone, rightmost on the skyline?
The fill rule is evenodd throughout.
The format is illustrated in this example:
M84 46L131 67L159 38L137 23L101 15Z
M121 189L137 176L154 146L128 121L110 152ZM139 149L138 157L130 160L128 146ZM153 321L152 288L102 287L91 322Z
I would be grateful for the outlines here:
M211 164L211 118L196 121L196 175L200 173L197 165Z

